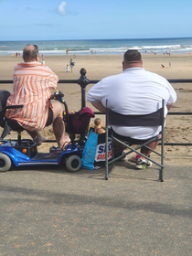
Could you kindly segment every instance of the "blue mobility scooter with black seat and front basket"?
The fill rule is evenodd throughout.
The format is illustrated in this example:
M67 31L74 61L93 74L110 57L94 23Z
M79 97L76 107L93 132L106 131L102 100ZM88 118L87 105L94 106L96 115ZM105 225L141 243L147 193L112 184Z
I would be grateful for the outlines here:
M0 138L0 172L8 171L12 165L66 165L71 172L79 171L80 158L86 142L85 134L88 131L91 117L94 117L91 109L85 108L87 110L69 114L62 92L56 91L54 95L51 95L50 99L60 101L65 106L63 118L71 142L63 149L61 154L49 158L52 147L48 153L38 153L37 144L34 141L21 139L21 132L24 129L16 121L5 119L7 109L23 107L23 105L6 106L9 96L9 91L0 91L0 126L4 129ZM73 127L73 123L76 123L77 127ZM5 136L11 131L17 132L17 140L5 140ZM75 140L75 133L80 134L79 140Z

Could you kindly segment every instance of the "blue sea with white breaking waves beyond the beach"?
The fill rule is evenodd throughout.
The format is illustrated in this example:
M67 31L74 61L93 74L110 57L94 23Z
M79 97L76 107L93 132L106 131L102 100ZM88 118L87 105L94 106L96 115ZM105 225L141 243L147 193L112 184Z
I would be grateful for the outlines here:
M127 49L138 49L141 53L183 54L192 50L192 37L0 41L0 55L22 54L27 44L37 45L40 55L116 55Z

